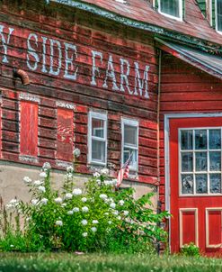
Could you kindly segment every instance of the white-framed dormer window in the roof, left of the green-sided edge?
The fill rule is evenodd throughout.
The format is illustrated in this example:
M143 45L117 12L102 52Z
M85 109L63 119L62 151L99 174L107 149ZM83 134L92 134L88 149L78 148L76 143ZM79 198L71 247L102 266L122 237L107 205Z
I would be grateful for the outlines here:
M182 0L158 0L158 10L160 14L182 20Z

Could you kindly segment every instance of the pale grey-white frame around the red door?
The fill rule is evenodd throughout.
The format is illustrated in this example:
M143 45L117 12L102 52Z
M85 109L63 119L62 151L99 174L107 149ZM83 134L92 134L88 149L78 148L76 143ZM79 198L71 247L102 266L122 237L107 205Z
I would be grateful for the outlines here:
M164 200L165 210L171 212L170 183L170 120L178 118L221 117L222 113L165 113L164 114ZM171 251L171 217L169 217L169 249Z

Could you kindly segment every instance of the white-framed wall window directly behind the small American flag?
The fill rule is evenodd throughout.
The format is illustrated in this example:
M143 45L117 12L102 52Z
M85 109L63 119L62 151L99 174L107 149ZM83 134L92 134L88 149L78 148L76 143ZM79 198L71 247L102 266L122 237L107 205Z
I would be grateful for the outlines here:
M131 155L129 168L138 171L138 121L122 119L122 164Z

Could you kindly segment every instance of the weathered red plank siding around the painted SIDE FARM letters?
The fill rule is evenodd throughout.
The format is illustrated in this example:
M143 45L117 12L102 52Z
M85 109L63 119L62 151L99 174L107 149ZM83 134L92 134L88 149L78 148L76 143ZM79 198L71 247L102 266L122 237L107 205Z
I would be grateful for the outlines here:
M156 183L158 77L157 57L151 34L135 32L125 26L120 26L120 24L102 21L100 17L95 15L92 17L78 12L75 15L65 16L58 12L52 18L31 10L31 8L30 6L18 11L13 6L2 5L0 11L1 23L5 26L4 34L8 34L8 27L16 29L12 33L11 42L8 46L8 63L0 64L0 86L3 89L3 159L20 161L18 93L28 92L40 97L38 165L48 160L53 167L58 168L56 159L58 154L57 126L59 114L56 103L58 101L67 101L75 104L74 146L82 152L76 168L77 171L89 172L89 166L87 166L87 114L90 110L96 109L108 113L108 164L114 165L114 171L120 168L121 116L138 120L139 168L137 180L145 183ZM10 15L8 14L9 10ZM24 28L24 25L26 28ZM75 64L78 66L76 81L63 77L65 73L64 62L62 62L61 72L58 77L49 75L49 44L46 46L45 66L48 72L42 72L42 69L44 70L42 68L42 57L40 57L38 68L34 72L27 69L27 45L25 39L30 32L36 33L39 37L38 46L35 46L38 53L40 53L39 50L43 46L41 36L60 41L62 50L64 50L65 41L76 45L78 48L78 58L75 59ZM33 43L31 44L34 46ZM97 86L90 84L92 80L91 49L100 51L103 55L102 64L98 59L96 60L98 62L97 66L101 69L101 77L96 78ZM120 58L129 60L131 68L129 75L130 87L135 84L134 61L139 64L141 77L143 77L146 65L149 65L148 99L140 95L129 95L126 86L125 92L111 90L111 80L108 80L108 88L102 87L109 59L108 53L112 55L118 86L120 86ZM55 56L58 56L58 50L55 50ZM2 58L3 50L0 49L0 59ZM64 55L62 56L63 60ZM31 62L31 65L34 65L34 62ZM58 67L58 63L54 63L54 65L55 68ZM22 86L20 80L17 80L14 88L13 66L28 72L31 77L30 86ZM30 163L34 164L34 162Z

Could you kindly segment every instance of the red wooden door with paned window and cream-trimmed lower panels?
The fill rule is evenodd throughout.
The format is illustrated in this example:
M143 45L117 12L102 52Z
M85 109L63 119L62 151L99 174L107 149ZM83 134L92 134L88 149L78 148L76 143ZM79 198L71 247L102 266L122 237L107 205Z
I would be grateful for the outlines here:
M222 117L170 120L171 249L222 255Z

